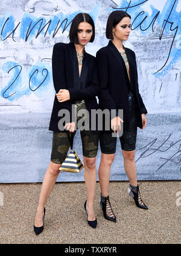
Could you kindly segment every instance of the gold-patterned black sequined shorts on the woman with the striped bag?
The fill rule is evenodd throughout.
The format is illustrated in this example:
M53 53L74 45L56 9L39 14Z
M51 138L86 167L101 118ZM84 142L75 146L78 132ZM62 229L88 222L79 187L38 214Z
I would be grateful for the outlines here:
M77 106L77 112L80 109L86 109L84 100L75 101L75 104ZM81 117L77 117L77 121L80 118ZM76 130L72 133L73 137L75 136L75 133ZM97 156L99 135L94 134L91 130L80 130L80 135L83 156L87 158L94 158L95 156ZM53 132L51 161L55 164L62 164L66 156L68 155L69 147L70 143L67 132Z

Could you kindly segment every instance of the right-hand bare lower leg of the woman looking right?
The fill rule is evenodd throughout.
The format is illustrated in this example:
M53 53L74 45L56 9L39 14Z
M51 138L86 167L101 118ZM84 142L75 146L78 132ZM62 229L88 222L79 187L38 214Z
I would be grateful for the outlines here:
M122 156L124 158L124 170L127 174L130 184L137 186L137 177L136 177L136 163L135 163L135 150L125 151L122 150Z

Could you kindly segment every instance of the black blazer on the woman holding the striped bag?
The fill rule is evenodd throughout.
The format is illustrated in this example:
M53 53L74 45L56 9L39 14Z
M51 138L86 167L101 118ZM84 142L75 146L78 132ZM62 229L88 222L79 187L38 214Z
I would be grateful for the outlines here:
M58 123L62 117L58 117L58 112L60 109L68 109L70 117L72 117L72 104L75 100L85 101L91 127L91 109L98 109L95 96L98 95L99 86L95 57L86 51L84 51L80 80L78 77L78 60L74 43L56 43L52 52L54 88L56 93L60 89L68 89L70 100L60 103L55 95L49 130L60 132ZM72 118L71 121L73 121Z

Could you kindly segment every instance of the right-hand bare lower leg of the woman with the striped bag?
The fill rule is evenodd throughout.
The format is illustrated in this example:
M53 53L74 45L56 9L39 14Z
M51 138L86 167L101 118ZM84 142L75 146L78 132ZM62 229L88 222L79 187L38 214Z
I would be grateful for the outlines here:
M97 170L95 168L95 158L86 158L83 156L84 161L84 179L86 183L87 191L87 213L88 220L95 220L94 212L94 197L95 197L95 187L97 181Z

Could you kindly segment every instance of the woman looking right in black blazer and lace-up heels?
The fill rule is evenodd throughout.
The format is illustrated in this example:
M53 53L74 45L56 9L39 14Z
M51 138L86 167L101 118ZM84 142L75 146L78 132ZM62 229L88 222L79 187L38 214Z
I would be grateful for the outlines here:
M138 207L148 209L140 196L135 164L137 127L145 128L147 109L139 94L135 52L122 45L122 41L127 40L130 34L130 19L130 15L121 10L113 11L107 19L106 37L110 41L96 56L100 82L99 105L101 109L109 109L110 112L115 109L110 124L112 131L117 133L123 126L123 134L119 139L124 170L130 181L128 193ZM118 109L123 109L123 118L119 116ZM104 217L114 222L116 217L109 201L109 179L110 167L115 158L116 139L111 131L105 130L100 135L100 205Z

